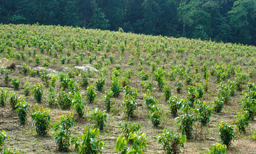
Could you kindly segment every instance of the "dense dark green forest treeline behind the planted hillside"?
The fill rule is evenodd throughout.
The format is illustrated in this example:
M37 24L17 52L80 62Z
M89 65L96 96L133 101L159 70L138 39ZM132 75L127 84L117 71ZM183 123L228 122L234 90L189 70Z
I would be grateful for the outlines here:
M0 0L0 23L37 22L256 45L256 0Z

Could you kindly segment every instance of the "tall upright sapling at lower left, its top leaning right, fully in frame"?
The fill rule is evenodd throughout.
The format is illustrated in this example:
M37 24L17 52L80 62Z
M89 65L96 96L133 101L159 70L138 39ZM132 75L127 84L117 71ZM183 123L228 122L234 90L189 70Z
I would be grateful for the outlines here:
M55 142L58 144L60 151L68 150L71 140L71 131L69 129L73 125L75 125L73 114L62 115L60 121L53 124L53 137L55 137Z

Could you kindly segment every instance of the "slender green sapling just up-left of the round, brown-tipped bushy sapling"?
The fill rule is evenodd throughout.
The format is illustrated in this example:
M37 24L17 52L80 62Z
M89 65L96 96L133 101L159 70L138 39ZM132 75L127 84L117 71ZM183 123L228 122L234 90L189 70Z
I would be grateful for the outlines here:
M30 104L25 101L24 97L19 96L15 107L17 108L15 112L17 112L19 116L20 124L24 124L27 120L27 112L29 110Z

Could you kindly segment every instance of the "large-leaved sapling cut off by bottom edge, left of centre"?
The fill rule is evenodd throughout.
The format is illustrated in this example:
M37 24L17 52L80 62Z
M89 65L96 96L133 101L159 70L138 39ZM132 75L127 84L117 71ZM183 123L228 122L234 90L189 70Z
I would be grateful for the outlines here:
M99 129L89 129L85 126L84 135L81 136L81 140L71 137L71 144L75 144L75 150L78 154L102 154L102 149L105 147L105 142L96 140L99 136ZM82 144L80 144L80 141Z

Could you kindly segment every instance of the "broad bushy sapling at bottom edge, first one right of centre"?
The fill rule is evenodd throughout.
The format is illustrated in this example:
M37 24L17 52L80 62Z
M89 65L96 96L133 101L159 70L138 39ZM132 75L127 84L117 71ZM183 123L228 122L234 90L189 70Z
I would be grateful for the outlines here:
M184 147L187 141L186 135L178 136L169 128L163 128L163 133L158 134L156 139L159 140L158 144L163 147L166 154L179 154L180 147Z

